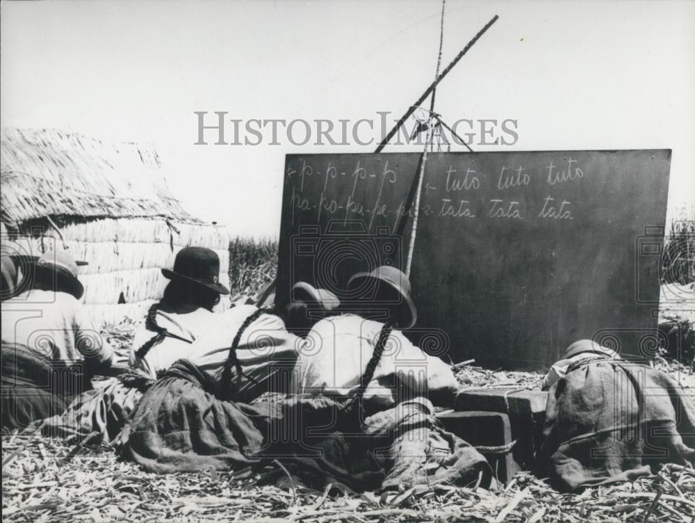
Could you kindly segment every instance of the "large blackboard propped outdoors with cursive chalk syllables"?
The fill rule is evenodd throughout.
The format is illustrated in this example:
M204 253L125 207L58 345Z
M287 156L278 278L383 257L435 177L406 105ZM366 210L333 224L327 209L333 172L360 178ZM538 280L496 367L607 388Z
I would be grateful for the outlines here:
M286 156L276 300L304 280L345 298L357 270L405 265L418 153ZM543 369L580 338L657 343L670 150L432 153L412 296L424 348ZM412 214L413 209L410 209Z

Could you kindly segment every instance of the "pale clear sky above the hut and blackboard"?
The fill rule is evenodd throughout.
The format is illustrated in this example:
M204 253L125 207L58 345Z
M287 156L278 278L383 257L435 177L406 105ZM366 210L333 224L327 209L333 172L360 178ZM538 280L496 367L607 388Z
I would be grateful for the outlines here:
M670 148L668 219L692 208L695 2L448 0L443 64L493 15L436 92L446 122L516 120L516 144L476 151ZM434 78L440 16L435 0L6 1L0 120L153 143L191 214L277 237L285 154L375 145L294 145L282 133L279 145L268 134L194 145L195 112L398 118ZM407 150L420 147L386 148Z

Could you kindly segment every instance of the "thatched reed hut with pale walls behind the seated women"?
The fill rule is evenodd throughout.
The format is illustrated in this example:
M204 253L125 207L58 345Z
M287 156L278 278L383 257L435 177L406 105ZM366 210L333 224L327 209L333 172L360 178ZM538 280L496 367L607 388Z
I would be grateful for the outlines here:
M160 268L185 246L214 249L229 287L227 230L181 207L151 145L2 129L1 179L3 241L39 254L57 244L88 261L80 279L95 325L142 318L168 281Z

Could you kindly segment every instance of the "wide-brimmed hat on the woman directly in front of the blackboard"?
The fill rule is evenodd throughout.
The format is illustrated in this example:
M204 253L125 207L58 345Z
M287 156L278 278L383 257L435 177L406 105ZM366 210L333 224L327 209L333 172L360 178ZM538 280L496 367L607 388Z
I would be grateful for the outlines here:
M410 297L410 280L397 268L382 265L370 273L357 273L347 282L347 289L354 291L365 287L359 299L373 300L395 312L396 326L409 329L418 319L418 311ZM388 296L393 294L393 296Z

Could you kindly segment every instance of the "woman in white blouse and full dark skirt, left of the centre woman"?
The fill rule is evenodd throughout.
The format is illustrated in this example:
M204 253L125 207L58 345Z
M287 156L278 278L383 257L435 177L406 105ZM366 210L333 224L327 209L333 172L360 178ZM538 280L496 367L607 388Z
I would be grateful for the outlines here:
M304 291L312 310L334 305L326 293ZM303 344L270 310L238 305L218 314L142 396L122 434L124 456L161 473L257 462L279 403L265 393L285 392L283 376Z

